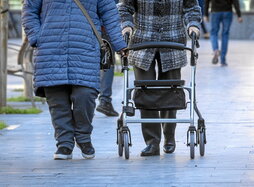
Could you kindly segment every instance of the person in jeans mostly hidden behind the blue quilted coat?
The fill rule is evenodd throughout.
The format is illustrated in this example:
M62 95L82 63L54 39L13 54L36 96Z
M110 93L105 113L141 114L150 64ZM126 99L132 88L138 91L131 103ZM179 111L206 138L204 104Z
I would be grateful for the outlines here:
M113 0L112 0L113 1ZM115 0L115 3L118 3L118 0ZM103 27L104 28L104 27ZM107 33L104 29L102 29L102 37L105 39L109 39ZM115 55L113 56L113 60L115 60ZM115 111L112 105L112 85L114 80L114 66L107 70L101 70L101 88L99 95L99 105L96 110L105 114L106 116L118 116L118 112Z

